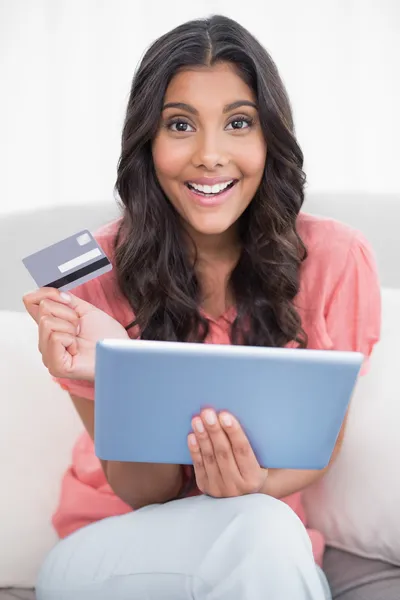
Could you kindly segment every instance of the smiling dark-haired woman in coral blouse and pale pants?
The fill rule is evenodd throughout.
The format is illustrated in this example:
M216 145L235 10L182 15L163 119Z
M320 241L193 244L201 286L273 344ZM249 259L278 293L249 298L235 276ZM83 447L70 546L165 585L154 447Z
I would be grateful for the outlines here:
M210 410L188 435L193 470L100 464L93 450L100 338L354 350L368 360L380 324L373 254L359 232L301 212L302 166L277 69L243 27L214 16L150 47L122 135L123 215L97 234L113 271L74 295L24 297L44 364L86 429L53 521L65 539L42 568L39 600L330 598L324 542L302 523L300 494L326 470L262 469L234 415Z

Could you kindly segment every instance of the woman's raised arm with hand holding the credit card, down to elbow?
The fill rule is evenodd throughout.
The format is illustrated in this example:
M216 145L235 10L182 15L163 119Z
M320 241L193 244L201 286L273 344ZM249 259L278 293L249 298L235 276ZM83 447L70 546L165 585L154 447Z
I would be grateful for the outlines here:
M41 288L24 296L24 304L39 326L39 350L44 365L63 387L68 390L72 387L72 402L86 431L94 439L94 403L79 392L75 395L73 390L82 389L84 385L87 391L88 384L89 388L93 387L96 341L107 337L126 339L128 335L110 316L112 311L101 286L98 287L98 279L89 284L92 291L84 287L80 296L61 296L59 290ZM108 312L96 308L82 296L97 298ZM71 380L74 380L73 385ZM111 488L132 508L167 502L184 493L180 465L115 461L101 461L101 465Z

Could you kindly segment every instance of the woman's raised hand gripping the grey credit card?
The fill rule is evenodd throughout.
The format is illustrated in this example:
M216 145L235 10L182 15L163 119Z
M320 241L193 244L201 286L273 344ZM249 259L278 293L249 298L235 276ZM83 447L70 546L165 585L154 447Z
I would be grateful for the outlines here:
M96 342L129 339L124 327L107 313L55 288L30 292L23 302L39 326L39 351L54 377L94 381Z

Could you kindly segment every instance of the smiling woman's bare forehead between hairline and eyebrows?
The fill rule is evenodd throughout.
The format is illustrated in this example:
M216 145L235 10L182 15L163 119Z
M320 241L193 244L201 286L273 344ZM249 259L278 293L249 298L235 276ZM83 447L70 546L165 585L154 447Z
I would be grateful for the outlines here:
M198 110L225 106L239 99L256 100L229 63L181 69L170 81L164 98L165 102L185 102Z

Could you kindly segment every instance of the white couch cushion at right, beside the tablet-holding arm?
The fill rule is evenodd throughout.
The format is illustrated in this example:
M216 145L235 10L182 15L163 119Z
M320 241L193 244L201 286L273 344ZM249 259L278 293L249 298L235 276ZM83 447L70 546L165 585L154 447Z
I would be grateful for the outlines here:
M303 497L328 544L400 565L400 290L382 291L382 310L382 339L357 385L340 455Z

